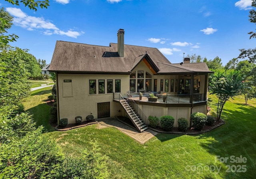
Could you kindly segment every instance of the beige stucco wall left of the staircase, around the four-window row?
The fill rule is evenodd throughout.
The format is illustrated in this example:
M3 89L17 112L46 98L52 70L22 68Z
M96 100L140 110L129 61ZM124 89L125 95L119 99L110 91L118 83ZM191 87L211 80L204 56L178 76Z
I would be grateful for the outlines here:
M129 78L129 75L58 74L60 119L68 118L68 123L74 123L78 115L83 120L90 114L98 118L97 103L102 102L110 102L110 117L122 115L120 105L113 102L113 93L107 93L107 80L111 79L113 83L114 80L121 80L121 94L124 95L129 89ZM89 94L89 80L96 80L96 94ZM105 80L104 94L98 94L98 80Z

